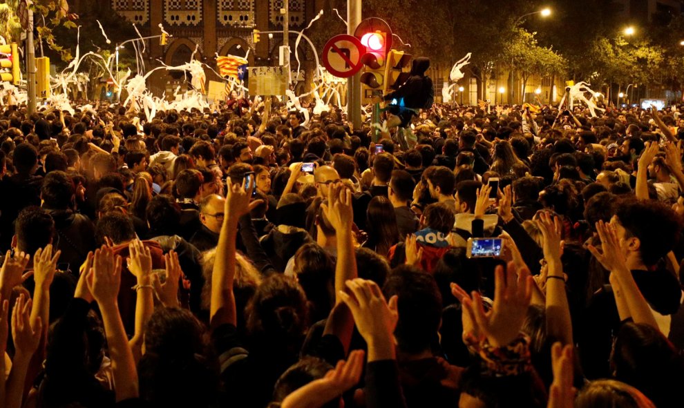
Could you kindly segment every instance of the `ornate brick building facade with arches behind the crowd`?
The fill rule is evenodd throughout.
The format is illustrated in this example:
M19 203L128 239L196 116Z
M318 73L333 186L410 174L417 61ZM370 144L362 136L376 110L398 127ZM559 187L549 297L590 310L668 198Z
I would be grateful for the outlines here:
M289 30L305 28L325 1L289 0ZM160 35L159 25L169 32L167 44L149 41L146 53L150 66L163 61L178 66L195 59L216 67L216 56L247 56L251 66L278 64L279 47L283 45L283 0L109 0L107 7L124 19L135 23L142 35ZM252 33L260 31L254 43ZM290 32L290 48L297 35ZM314 69L313 50L306 41L298 48L304 77ZM290 57L294 61L294 50ZM157 63L158 64L158 63ZM216 73L207 71L208 79ZM307 75L308 74L308 75ZM176 86L185 86L181 72L152 75L148 88L155 94Z

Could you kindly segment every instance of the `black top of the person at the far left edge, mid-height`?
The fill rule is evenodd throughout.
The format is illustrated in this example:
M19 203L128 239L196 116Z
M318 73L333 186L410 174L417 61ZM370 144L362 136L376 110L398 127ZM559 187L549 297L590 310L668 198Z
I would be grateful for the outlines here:
M42 184L43 177L19 174L4 177L0 182L0 248L3 251L10 248L19 212L28 206L40 205Z

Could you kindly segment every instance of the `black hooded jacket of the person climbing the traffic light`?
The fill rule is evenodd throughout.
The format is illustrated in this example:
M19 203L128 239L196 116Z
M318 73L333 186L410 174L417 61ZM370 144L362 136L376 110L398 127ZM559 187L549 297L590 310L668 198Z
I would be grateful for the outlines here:
M397 99L397 104L401 104L400 100L403 99L403 106L410 109L433 106L435 90L433 89L433 80L425 75L428 68L430 68L430 59L425 57L414 59L411 66L411 76L395 92L385 95L384 99L386 101Z

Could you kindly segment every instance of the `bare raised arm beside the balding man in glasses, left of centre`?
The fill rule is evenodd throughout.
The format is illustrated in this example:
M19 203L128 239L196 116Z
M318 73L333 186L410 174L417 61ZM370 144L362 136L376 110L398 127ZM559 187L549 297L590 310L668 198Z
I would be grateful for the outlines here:
M238 233L238 220L249 212L249 197L251 197L252 188L252 186L233 184L228 178L225 217L216 246L216 261L211 273L211 314L209 322L212 329L216 329L221 324L236 325L238 322L233 293L236 235Z

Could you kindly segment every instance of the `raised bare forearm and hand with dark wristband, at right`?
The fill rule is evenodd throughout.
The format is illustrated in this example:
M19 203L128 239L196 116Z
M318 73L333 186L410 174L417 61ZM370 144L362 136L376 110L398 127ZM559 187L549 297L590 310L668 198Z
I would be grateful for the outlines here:
M547 302L547 331L549 335L558 338L562 344L572 344L572 320L570 306L565 291L563 264L560 262L560 218L549 213L540 213L537 226L544 237L544 260L547 261L546 278Z

